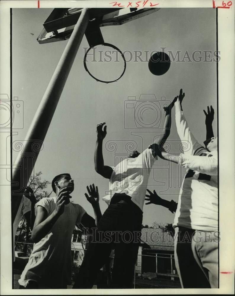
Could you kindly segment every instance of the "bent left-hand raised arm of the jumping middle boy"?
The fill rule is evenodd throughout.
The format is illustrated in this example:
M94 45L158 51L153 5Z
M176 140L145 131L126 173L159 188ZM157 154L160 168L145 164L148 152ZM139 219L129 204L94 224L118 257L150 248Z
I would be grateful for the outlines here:
M97 139L96 139L96 147L95 147L95 154L94 154L94 163L95 163L95 171L103 176L104 178L110 179L112 175L112 168L108 165L104 165L104 159L103 159L103 140L107 134L106 128L107 126L104 126L105 122L97 124L96 127L96 133L97 133ZM104 130L102 130L102 127L104 126Z

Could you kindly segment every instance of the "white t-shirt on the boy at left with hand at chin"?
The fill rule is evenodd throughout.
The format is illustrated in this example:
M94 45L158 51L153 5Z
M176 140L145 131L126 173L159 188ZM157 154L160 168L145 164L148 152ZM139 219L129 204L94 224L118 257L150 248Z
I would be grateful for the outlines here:
M48 216L55 209L56 197L42 198L35 205L44 207ZM71 284L71 239L75 224L80 224L86 211L81 205L69 203L49 233L33 246L33 252L19 279L26 286L29 280L54 287L58 283Z

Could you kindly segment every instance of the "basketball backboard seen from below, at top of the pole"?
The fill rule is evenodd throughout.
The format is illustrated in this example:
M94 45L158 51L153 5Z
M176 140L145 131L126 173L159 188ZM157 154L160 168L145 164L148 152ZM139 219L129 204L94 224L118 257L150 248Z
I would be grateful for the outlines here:
M90 22L86 38L90 46L104 43L99 27L122 25L139 17L149 15L160 8L89 8ZM82 8L55 8L44 22L44 29L37 38L39 44L70 38Z

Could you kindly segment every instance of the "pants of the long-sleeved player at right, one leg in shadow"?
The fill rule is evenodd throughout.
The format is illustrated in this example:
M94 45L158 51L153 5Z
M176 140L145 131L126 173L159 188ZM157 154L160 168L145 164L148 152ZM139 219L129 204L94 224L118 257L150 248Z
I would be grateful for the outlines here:
M218 288L218 232L176 227L175 263L182 288Z

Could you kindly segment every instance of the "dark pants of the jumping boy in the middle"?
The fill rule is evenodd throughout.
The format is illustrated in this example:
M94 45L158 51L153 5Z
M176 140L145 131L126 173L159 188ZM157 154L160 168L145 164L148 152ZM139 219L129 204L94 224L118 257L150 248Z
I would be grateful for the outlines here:
M132 288L143 213L125 194L115 194L100 219L73 289L91 289L114 249L111 288Z

